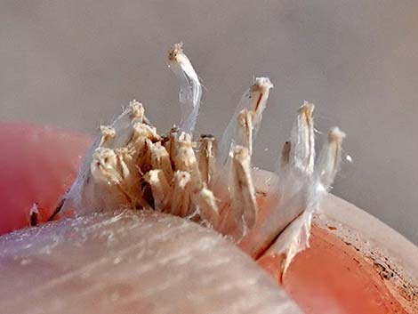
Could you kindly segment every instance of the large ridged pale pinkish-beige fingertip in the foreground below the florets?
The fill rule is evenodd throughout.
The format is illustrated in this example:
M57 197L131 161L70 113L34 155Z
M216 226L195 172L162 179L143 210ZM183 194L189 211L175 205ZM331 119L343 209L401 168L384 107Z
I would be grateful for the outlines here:
M161 213L54 221L0 238L7 313L300 313L236 246Z

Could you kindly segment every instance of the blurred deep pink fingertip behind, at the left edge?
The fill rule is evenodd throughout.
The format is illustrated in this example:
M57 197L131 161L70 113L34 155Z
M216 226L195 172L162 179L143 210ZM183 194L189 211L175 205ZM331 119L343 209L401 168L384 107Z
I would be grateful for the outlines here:
M2 124L0 132L2 235L28 226L34 204L38 221L51 216L91 141L83 134L28 124Z

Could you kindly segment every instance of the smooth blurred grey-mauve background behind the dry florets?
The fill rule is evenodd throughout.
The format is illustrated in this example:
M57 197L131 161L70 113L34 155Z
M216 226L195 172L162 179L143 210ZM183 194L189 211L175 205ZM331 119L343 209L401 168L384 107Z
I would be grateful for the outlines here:
M133 98L180 117L166 53L205 85L197 131L221 135L254 76L270 94L253 164L274 170L296 110L348 134L334 194L418 244L418 1L0 2L0 120L94 134ZM323 135L318 133L318 139Z

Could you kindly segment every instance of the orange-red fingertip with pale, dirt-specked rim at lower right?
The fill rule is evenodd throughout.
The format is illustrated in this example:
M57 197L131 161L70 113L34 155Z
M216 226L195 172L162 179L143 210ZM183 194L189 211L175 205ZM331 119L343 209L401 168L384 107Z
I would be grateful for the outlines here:
M415 312L417 288L410 276L418 274L416 246L338 197L328 197L321 209L310 247L281 278L301 308L312 314ZM282 261L275 245L258 260L277 281Z

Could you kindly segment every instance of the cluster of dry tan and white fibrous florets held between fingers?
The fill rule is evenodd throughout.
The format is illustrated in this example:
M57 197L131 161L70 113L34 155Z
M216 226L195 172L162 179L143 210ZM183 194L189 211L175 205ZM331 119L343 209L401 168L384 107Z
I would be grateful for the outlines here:
M219 143L212 135L194 141L202 86L182 44L170 50L168 65L181 84L179 126L159 133L145 117L142 104L131 101L111 125L100 126L101 135L62 211L125 207L171 213L218 230L255 258L285 230L269 249L285 254L286 270L293 256L309 245L312 214L338 171L344 133L330 130L316 163L314 105L301 106L277 158L279 180L269 191L268 212L261 218L251 157L273 87L269 78L255 78Z

